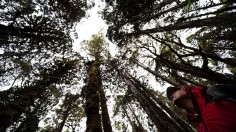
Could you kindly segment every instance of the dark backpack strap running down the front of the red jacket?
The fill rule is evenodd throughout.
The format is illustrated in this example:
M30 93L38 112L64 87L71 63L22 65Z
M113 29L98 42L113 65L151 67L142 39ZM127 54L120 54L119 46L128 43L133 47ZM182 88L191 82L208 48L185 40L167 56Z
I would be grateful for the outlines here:
M197 115L198 115L198 118L200 119L200 121L201 121L201 123L203 124L204 128L206 129L206 131L209 132L208 127L207 127L205 121L204 121L203 118L202 118L202 114L201 114L200 108L199 108L199 106L198 106L197 100L196 100L196 98L195 98L195 96L193 95L193 93L192 93L191 90L189 90L189 94L190 94L191 100L192 100L192 102L193 102L193 107L194 107L194 109L195 109L195 111L196 111L196 113L197 113Z

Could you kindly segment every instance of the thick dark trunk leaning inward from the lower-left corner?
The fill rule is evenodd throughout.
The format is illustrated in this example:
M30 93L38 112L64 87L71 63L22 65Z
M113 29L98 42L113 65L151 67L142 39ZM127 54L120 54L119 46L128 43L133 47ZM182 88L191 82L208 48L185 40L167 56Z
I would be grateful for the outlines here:
M41 97L48 86L59 82L60 77L64 77L71 68L70 64L66 63L50 71L50 73L41 73L43 78L35 81L32 86L26 86L15 91L10 88L0 92L0 131L5 132L9 126L34 105L34 101Z

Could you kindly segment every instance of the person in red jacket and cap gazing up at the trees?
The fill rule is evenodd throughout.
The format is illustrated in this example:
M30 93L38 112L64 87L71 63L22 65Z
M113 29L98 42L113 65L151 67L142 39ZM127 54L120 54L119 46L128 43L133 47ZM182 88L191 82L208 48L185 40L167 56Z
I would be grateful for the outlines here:
M202 87L169 87L167 97L187 111L198 132L236 131L236 103L227 99L212 100Z

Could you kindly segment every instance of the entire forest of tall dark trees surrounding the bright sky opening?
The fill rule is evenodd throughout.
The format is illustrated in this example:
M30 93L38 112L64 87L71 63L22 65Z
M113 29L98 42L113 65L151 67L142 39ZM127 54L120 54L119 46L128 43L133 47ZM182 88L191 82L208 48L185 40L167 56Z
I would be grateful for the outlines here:
M0 2L0 132L193 132L159 87L236 82L234 0L102 2L87 56L71 34L99 2Z

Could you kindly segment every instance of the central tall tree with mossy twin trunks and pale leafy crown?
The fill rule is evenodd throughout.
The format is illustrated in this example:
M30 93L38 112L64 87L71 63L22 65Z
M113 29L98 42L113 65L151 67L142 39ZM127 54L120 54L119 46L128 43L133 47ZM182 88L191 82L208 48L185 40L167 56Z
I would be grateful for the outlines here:
M85 113L87 115L87 132L102 131L111 132L112 127L106 105L106 96L102 86L102 78L99 66L107 55L107 43L102 34L93 35L91 40L84 41L84 48L94 60L88 62L88 83L85 86ZM101 104L101 106L99 106ZM99 108L102 110L100 119Z

